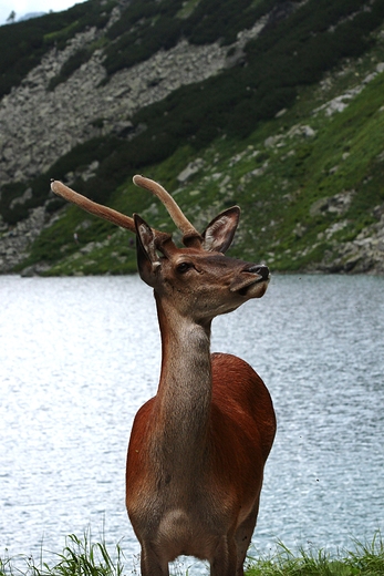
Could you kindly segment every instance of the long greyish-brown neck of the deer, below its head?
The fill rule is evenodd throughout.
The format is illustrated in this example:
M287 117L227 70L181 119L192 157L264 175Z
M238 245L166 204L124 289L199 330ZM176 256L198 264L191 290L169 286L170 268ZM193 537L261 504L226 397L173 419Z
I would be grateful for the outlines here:
M210 322L196 323L156 297L162 372L155 400L157 441L177 462L201 459L211 404ZM178 459L177 455L180 455Z

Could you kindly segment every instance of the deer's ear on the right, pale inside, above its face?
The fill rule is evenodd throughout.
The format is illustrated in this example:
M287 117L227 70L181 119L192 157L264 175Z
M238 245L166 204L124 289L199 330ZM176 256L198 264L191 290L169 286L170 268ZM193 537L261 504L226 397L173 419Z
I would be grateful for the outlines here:
M236 228L239 224L240 208L233 206L228 210L221 212L203 233L203 248L207 251L228 250L232 243Z

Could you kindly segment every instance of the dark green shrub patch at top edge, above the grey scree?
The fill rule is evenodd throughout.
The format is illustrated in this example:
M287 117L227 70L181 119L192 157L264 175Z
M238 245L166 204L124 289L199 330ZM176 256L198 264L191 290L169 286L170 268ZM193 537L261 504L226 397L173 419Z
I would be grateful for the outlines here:
M142 62L160 48L168 50L181 38L193 44L220 41L230 44L237 33L251 28L279 0L156 0L143 6L133 0L107 31L111 40L104 65L111 75Z

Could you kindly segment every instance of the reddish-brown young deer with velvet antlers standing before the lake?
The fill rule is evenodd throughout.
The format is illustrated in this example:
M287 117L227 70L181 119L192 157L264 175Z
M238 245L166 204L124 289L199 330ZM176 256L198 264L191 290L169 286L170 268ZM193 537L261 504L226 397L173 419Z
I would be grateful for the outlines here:
M126 461L126 508L141 545L141 573L168 576L169 562L186 555L208 560L211 576L243 576L276 415L246 361L210 353L210 332L215 317L263 296L269 269L225 255L238 206L199 234L160 184L141 175L133 181L164 204L183 247L137 214L96 204L59 181L51 188L136 235L138 274L155 296L159 383L136 413Z

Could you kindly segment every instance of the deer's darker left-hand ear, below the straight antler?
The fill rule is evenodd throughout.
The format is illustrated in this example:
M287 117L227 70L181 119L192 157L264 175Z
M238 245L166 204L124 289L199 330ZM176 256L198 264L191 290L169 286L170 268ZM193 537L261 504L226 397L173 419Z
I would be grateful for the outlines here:
M155 235L151 226L137 214L134 214L134 220L138 274L142 280L153 287L154 271L160 266L160 260L156 253Z

